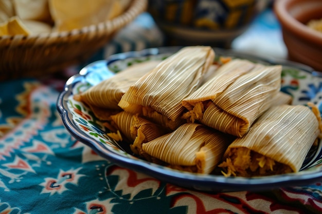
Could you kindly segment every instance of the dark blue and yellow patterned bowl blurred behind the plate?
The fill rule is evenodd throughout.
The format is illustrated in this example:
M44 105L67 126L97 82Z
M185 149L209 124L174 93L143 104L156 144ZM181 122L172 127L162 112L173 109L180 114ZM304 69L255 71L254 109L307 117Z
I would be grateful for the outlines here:
M148 11L169 45L229 47L265 0L149 0Z

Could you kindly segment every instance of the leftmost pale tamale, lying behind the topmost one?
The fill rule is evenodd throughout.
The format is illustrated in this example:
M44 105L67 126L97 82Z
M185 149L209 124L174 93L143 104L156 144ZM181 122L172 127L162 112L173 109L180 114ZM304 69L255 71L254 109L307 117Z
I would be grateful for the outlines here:
M156 67L161 61L147 61L129 66L80 94L80 99L90 106L121 110L118 102L122 95L140 77Z

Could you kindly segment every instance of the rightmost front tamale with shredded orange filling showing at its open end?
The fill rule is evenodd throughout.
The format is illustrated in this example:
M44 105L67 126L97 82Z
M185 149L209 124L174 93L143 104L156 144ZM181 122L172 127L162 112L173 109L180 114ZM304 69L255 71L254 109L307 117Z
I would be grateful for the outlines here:
M219 167L225 176L297 172L320 134L319 124L320 118L309 107L273 106L228 146Z

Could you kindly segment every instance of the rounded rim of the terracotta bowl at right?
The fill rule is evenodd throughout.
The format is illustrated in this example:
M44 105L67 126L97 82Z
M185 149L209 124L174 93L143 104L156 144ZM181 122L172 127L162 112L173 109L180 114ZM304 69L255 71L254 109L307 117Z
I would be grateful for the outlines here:
M308 0L306 0L309 2ZM312 2L312 0L310 0ZM309 28L308 26L296 20L288 11L292 5L301 2L301 0L278 0L274 4L274 12L280 21L282 28L285 28L295 35L304 38L310 43L322 46L322 33ZM313 1L315 2L315 1Z

